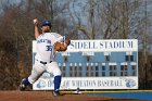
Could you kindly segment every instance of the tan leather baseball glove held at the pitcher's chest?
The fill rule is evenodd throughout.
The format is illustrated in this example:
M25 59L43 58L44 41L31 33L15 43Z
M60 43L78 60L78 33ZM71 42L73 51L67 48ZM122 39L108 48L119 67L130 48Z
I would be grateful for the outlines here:
M55 42L54 43L54 50L55 51L66 51L67 50L67 46L64 42Z

